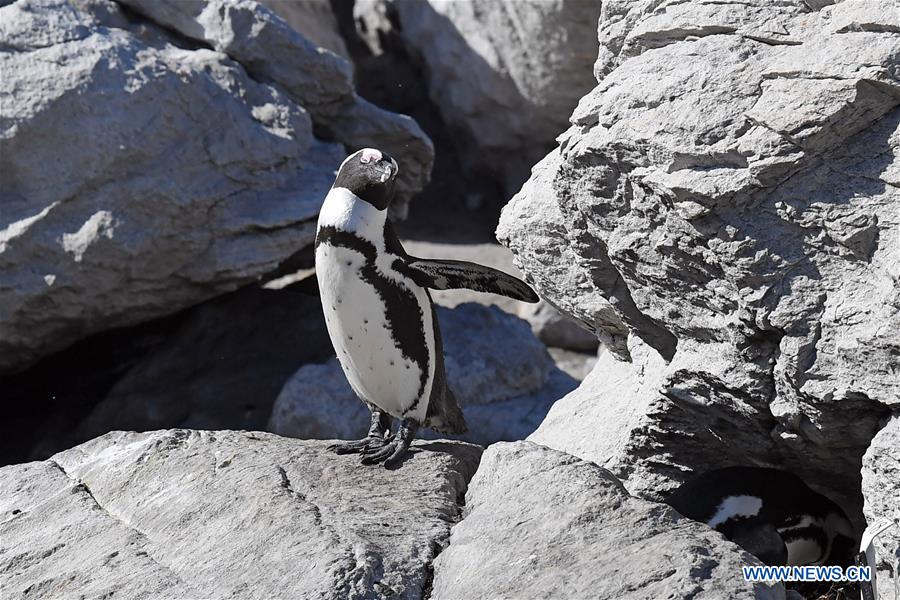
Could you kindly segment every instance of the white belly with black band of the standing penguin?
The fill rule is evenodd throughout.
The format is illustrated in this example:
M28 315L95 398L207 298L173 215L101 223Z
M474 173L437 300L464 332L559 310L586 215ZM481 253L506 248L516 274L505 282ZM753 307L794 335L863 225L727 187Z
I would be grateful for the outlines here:
M323 208L323 216L328 214ZM332 230L322 218L319 225L322 308L350 386L388 414L421 422L435 369L428 293L393 270L399 257L387 253L371 232Z

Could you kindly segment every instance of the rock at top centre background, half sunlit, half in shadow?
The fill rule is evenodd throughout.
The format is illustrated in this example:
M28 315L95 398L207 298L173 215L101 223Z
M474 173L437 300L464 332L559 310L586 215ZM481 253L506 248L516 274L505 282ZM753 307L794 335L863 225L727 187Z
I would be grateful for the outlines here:
M429 95L470 170L513 193L568 126L594 85L591 0L361 1L358 30L373 52L398 35L424 65Z

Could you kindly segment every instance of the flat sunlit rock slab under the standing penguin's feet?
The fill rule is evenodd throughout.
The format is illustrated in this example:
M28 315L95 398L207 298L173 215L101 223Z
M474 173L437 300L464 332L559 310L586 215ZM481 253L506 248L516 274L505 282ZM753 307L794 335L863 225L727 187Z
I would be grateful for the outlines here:
M324 442L115 432L0 469L16 597L420 598L481 450L417 442L396 471Z

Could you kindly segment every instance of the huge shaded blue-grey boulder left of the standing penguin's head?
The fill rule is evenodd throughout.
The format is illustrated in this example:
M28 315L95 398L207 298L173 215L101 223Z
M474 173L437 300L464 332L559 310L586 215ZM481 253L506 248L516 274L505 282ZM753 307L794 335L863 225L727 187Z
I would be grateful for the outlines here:
M406 198L427 180L415 123L265 8L127 4L148 16L0 8L0 371L271 271L311 243L345 147L394 151Z

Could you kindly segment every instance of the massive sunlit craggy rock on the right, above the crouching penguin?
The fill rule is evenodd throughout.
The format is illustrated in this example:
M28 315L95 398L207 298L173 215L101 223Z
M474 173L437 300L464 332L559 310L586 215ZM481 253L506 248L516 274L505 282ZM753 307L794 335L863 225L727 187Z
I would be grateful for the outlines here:
M563 442L588 425L554 410L536 439L632 489L780 464L859 514L900 402L896 15L807 4L606 3L599 85L501 218L543 296L630 333L556 409L621 378L632 427Z

